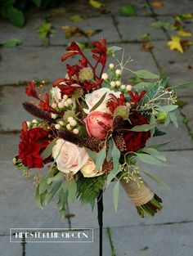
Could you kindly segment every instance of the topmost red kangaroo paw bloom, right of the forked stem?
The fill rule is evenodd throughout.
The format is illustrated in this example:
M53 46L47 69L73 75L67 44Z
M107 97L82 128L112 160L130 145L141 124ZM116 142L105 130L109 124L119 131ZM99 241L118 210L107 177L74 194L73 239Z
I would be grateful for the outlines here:
M106 61L106 41L104 38L101 38L101 41L93 42L93 45L95 46L94 49L92 49L91 52L98 54L99 56L96 56L96 54L93 54L92 57L101 65L105 65Z

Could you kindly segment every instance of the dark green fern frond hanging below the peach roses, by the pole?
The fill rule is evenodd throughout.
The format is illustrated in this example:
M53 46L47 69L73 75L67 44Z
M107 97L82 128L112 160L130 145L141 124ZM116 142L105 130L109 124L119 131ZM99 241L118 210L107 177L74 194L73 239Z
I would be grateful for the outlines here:
M81 174L77 181L78 197L82 204L91 204L92 209L95 205L95 200L100 194L100 191L105 185L106 175L99 177L83 177Z

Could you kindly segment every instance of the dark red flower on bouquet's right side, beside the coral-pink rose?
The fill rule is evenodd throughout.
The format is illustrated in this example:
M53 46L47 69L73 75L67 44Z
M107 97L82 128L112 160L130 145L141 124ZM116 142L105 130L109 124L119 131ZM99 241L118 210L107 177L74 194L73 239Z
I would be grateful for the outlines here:
M131 129L136 125L148 124L148 120L138 112L133 112L129 115L132 124L127 121L125 128ZM137 151L146 146L146 141L150 138L150 131L148 132L132 132L123 131L123 138L128 151Z

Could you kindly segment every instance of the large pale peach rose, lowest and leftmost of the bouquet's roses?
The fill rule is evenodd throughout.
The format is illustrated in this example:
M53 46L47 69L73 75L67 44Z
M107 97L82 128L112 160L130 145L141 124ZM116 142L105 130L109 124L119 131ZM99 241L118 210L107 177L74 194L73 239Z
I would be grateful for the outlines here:
M77 173L88 163L88 153L84 147L79 147L58 139L52 148L52 155L56 161L57 168L63 173Z

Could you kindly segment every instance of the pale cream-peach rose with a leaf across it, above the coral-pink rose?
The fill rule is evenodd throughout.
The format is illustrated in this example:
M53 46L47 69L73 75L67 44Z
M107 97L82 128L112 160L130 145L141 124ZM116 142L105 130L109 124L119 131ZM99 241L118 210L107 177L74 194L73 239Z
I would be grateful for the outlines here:
M110 93L114 94L116 97L120 96L121 92L114 92L110 90L109 88L101 88L96 91L93 91L92 93L88 93L85 95L85 101L88 105L88 110L84 109L85 113L89 113L93 106L96 105L96 103L101 99L101 97L105 95L104 101L102 101L101 105L96 108L97 111L104 112L104 113L110 113L110 110L106 107L107 101L110 100Z

